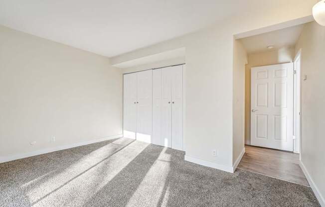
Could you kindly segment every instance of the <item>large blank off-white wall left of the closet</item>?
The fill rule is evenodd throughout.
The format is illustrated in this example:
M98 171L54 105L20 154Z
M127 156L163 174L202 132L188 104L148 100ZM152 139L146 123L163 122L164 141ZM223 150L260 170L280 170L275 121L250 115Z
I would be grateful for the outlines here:
M0 26L0 160L121 133L121 69Z

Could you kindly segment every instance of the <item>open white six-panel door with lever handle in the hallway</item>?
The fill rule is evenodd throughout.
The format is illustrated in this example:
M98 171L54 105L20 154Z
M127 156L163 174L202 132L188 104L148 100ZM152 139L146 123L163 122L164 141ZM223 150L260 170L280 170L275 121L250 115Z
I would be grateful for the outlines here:
M251 68L251 144L293 151L293 63Z

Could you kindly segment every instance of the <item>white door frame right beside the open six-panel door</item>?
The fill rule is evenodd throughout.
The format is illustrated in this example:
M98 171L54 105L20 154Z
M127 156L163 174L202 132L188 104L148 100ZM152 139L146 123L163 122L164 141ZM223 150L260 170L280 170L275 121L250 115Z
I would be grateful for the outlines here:
M301 53L302 49L299 49L295 58L294 58L294 70L295 72L295 77L294 77L294 108L296 108L296 111L294 111L294 124L296 124L296 139L294 139L294 153L301 153L301 143L302 143L302 137L301 137L301 109L302 109L302 81L301 81ZM299 61L299 67L297 67L297 61ZM299 86L299 91L297 93L297 84ZM299 103L299 108L295 107ZM298 136L297 136L298 134ZM297 147L298 146L298 147Z

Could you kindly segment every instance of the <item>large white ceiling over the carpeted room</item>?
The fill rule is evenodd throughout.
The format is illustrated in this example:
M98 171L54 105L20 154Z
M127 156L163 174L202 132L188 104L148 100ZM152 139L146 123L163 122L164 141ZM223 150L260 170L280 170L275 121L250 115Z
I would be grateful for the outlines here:
M248 8L247 2L1 0L0 24L113 57L209 26Z

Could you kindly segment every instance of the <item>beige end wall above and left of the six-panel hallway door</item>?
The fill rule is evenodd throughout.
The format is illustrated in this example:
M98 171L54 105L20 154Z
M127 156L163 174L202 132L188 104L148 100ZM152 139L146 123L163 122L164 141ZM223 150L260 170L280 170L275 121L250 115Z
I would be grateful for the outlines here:
M284 47L277 50L248 55L245 69L245 144L251 143L251 68L293 62L294 48Z

